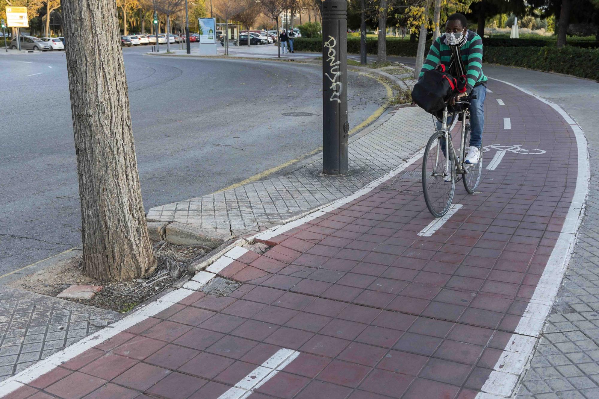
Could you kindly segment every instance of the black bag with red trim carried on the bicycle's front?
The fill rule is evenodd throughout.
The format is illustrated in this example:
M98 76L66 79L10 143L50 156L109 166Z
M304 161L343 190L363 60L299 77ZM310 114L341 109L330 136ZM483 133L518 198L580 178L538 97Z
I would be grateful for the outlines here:
M436 114L443 110L446 101L454 93L466 91L465 76L460 80L463 80L463 84L445 72L444 65L439 65L437 69L430 69L420 77L412 90L412 101L426 112Z

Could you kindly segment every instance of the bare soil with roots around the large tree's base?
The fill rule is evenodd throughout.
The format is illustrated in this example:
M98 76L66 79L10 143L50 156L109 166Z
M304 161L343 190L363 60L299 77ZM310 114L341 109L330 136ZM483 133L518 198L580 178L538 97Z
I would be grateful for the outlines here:
M81 255L64 259L33 274L8 283L10 288L56 297L71 285L101 285L103 288L90 300L69 300L88 306L126 313L170 287L179 287L189 280L187 265L210 252L208 247L177 246L160 241L153 246L158 261L156 270L143 279L127 282L99 281L83 273Z

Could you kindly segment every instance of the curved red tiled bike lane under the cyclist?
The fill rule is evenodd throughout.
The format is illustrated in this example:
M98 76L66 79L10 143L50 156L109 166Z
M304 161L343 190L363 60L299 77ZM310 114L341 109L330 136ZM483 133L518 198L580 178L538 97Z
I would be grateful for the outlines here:
M391 179L231 261L219 274L244 284L228 297L195 292L7 397L507 395L552 300L539 282L577 143L549 105L490 86L488 169L474 195L458 183L462 207L434 233L419 234L433 220L419 180Z

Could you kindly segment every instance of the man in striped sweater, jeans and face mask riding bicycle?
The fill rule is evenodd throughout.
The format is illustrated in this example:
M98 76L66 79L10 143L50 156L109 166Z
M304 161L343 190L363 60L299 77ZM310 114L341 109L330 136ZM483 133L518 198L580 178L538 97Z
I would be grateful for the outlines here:
M439 64L444 65L445 70L454 77L465 75L466 91L453 96L449 104L455 105L456 101L467 95L476 96L476 99L470 100L470 148L464 163L477 164L485 126L483 105L487 77L482 68L483 42L476 32L467 29L466 17L460 13L451 14L447 18L445 32L432 43L419 76L422 77L425 71L434 69ZM451 122L451 119L447 120L447 123ZM437 129L441 129L441 122L437 122Z

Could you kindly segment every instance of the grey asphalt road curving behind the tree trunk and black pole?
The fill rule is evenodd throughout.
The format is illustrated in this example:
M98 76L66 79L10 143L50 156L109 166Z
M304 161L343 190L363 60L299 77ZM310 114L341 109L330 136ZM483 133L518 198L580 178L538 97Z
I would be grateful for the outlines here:
M124 49L144 207L199 197L317 149L321 70L285 62L145 56ZM80 244L62 52L0 55L0 276ZM349 122L386 96L349 74ZM283 116L307 112L312 116Z

